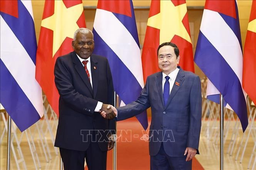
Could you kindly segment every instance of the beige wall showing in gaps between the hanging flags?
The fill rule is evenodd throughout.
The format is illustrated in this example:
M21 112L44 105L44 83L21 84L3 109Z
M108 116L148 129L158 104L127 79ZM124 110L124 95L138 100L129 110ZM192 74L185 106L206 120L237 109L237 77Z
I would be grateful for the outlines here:
M204 0L189 0L187 1L188 7L203 7ZM135 17L136 17L136 24L138 29L139 41L141 46L144 43L144 37L146 32L147 26L147 19L149 15L149 6L151 1L150 0L133 0L134 7L148 7L146 9L142 8L135 8ZM251 11L251 3L252 0L238 0L238 10L239 10L239 20L240 20L240 28L241 28L241 36L242 36L242 44L244 46L244 41L246 37L246 31L248 26L249 15ZM97 0L83 0L83 5L85 7L85 21L86 26L89 29L92 29L94 17L95 17L95 7L97 6ZM32 0L32 7L33 7L33 14L35 20L35 31L37 35L37 41L40 32L40 25L44 10L44 0ZM88 8L92 7L92 8ZM191 39L193 45L193 51L196 48L197 37L199 34L199 28L202 19L202 9L188 9L188 16L189 16L189 25L191 30ZM195 71L201 78L204 76L202 71L196 66L195 64Z

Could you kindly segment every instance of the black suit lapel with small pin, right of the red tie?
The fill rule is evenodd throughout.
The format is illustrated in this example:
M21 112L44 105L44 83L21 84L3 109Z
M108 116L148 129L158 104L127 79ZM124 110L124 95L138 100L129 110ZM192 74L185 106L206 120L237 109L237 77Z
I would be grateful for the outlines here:
M98 69L98 61L94 57L94 54L90 57L91 61L91 73L92 73L92 89L93 89L93 97L96 97L98 84L99 84L99 69Z

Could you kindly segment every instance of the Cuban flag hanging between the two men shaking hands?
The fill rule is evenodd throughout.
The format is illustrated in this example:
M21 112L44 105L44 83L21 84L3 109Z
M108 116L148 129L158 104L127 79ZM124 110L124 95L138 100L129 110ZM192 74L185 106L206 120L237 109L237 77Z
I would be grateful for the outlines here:
M99 0L94 19L94 53L107 57L121 105L135 101L144 87L141 50L132 1ZM146 130L146 111L136 116Z

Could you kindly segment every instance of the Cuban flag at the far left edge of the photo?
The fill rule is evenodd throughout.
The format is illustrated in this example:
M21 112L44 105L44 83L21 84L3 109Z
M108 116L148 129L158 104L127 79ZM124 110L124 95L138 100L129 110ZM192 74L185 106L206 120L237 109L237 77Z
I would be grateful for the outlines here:
M37 41L31 1L1 1L0 102L20 131L43 116L35 80Z

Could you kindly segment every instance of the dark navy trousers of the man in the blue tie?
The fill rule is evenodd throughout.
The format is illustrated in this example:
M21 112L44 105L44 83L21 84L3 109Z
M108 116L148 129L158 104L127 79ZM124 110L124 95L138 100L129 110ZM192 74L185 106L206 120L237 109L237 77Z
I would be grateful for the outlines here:
M185 150L184 150L185 152ZM155 156L150 156L151 170L191 170L192 160L186 162L186 157L170 157L164 151L161 144L160 150Z

